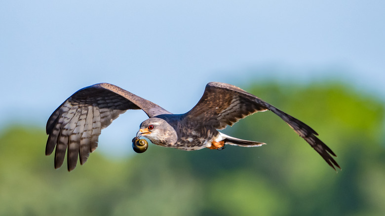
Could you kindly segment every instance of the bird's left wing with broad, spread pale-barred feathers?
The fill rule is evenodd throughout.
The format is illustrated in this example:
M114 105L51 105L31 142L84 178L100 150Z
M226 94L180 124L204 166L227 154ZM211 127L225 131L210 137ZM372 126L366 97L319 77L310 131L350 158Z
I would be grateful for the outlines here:
M62 166L66 151L68 171L75 169L77 156L85 163L98 146L98 138L119 114L127 109L143 109L149 117L170 114L151 101L109 83L78 90L49 117L45 155L55 150L55 169Z

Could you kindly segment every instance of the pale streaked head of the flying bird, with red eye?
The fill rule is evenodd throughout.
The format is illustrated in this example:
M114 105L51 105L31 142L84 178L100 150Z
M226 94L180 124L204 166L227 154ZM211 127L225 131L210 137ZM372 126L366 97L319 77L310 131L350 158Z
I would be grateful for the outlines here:
M145 137L153 144L171 146L177 141L177 133L164 119L152 117L140 124L136 137Z

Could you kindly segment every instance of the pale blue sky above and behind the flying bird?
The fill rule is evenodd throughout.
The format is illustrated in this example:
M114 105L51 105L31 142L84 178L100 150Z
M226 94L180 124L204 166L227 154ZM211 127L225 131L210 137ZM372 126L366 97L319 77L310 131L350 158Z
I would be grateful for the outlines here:
M209 81L242 88L250 78L335 78L385 98L384 11L382 0L1 1L0 126L44 128L66 98L99 82L175 113ZM101 151L129 152L146 117L116 119Z

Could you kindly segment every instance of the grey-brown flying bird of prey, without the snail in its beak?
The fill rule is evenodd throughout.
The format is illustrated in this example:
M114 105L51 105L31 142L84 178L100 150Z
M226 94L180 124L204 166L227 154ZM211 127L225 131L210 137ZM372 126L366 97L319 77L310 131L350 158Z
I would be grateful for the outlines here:
M336 170L336 154L307 124L273 107L258 97L230 84L210 82L202 98L188 112L172 114L151 101L109 83L78 90L49 117L45 155L55 149L55 169L62 166L67 151L68 171L75 169L78 158L84 164L98 146L103 128L128 109L142 109L149 118L140 124L136 138L148 138L153 144L182 150L223 149L225 144L252 147L265 143L241 140L219 132L227 125L258 111L270 110L281 117L322 158ZM135 141L135 138L133 142ZM341 169L341 168L340 168Z

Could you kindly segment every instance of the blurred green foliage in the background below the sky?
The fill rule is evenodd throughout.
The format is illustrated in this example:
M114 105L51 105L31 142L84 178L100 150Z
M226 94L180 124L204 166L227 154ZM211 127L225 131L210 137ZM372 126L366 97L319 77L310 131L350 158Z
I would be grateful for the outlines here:
M244 89L313 127L342 171L269 111L225 130L267 143L261 147L187 152L151 144L121 160L96 151L71 173L44 156L43 128L13 126L0 134L0 215L384 214L383 102L338 83Z

